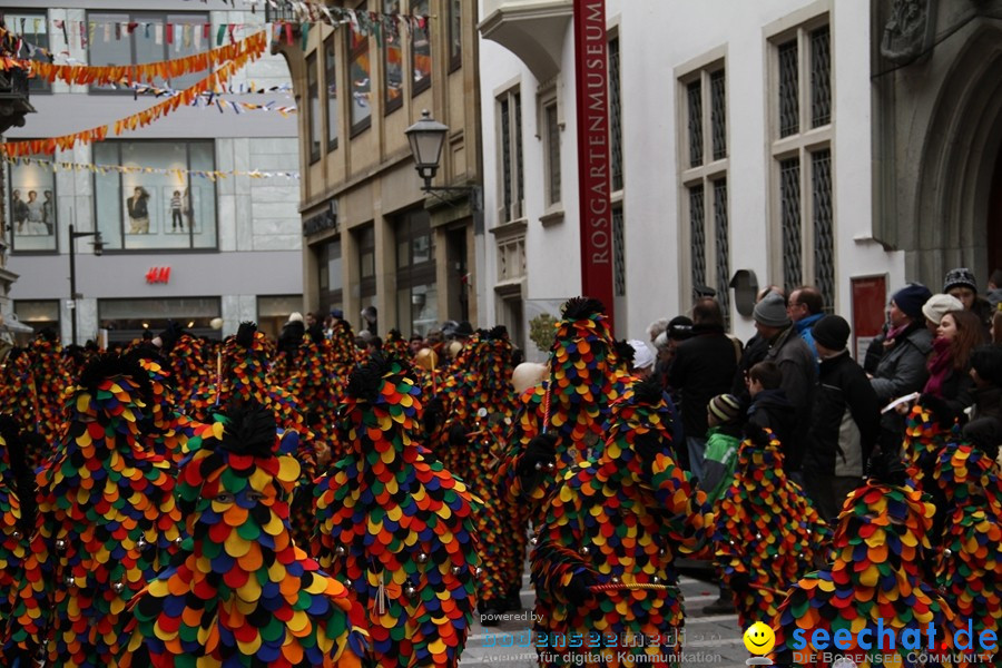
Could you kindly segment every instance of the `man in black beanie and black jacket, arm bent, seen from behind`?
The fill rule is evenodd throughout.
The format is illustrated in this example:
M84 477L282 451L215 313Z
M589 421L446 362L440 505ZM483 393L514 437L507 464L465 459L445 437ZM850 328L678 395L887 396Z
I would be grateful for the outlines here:
M837 315L814 325L821 369L804 453L804 488L827 522L838 518L842 502L863 484L864 464L881 432L881 402L846 350L848 336L848 323Z

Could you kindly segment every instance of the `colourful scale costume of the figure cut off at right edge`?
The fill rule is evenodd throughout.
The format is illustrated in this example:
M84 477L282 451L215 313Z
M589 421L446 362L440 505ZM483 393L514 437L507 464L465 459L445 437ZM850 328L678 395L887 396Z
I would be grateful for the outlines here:
M947 445L935 468L944 493L945 537L936 582L974 637L1002 626L1002 485L995 461L963 443Z

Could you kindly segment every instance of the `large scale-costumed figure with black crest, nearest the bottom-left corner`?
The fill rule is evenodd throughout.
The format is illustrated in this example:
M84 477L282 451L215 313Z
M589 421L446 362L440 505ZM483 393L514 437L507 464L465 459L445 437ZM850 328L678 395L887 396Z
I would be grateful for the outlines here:
M8 661L105 667L127 639L125 608L180 542L169 461L144 444L149 377L118 355L85 370L65 435L38 473L38 520L11 589Z

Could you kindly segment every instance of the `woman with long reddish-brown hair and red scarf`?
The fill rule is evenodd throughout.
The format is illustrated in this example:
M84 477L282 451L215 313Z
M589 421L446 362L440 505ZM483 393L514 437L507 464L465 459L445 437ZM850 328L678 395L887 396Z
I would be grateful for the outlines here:
M954 415L960 415L974 401L971 353L983 342L984 331L976 315L970 311L947 312L936 327L923 393L942 399Z

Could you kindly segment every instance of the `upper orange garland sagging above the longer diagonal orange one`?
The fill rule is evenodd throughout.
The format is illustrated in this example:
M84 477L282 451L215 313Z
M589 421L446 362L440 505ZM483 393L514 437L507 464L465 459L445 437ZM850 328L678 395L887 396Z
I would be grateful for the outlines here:
M2 29L0 29L2 37ZM175 60L160 60L143 65L55 65L39 60L0 59L0 69L12 68L28 70L31 76L52 82L59 79L78 86L107 86L149 81L154 79L169 80L193 72L200 72L220 65L242 60L248 56L256 59L268 46L267 32L258 31L233 45L218 47L205 53L185 56Z

